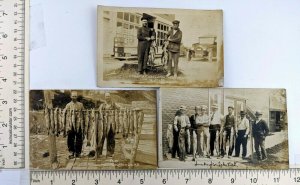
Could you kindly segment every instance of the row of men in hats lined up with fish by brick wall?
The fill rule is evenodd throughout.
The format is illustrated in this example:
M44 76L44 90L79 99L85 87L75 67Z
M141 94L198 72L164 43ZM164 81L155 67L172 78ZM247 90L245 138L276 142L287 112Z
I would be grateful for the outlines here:
M187 108L184 105L180 106L178 112L173 123L172 158L175 158L176 154L182 161L185 160L186 154L192 154L193 160L196 156L240 157L242 146L242 158L246 159L247 141L252 134L257 160L267 159L265 138L269 128L260 111L255 113L256 119L253 123L250 123L245 111L240 111L240 116L236 119L233 106L228 107L226 116L218 111L217 104L211 106L210 115L205 105L196 106L195 113L190 117L187 116Z

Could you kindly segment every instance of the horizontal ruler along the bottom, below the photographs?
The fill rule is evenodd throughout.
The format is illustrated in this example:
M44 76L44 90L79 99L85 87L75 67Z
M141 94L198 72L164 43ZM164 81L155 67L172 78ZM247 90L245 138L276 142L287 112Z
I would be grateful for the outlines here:
M31 185L294 185L300 169L290 170L145 170L145 171L39 171Z

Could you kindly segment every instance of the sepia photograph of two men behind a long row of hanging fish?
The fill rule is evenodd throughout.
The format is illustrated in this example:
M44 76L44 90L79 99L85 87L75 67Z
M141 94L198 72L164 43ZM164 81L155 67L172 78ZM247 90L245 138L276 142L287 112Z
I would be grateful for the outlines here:
M156 90L31 90L30 168L157 168Z

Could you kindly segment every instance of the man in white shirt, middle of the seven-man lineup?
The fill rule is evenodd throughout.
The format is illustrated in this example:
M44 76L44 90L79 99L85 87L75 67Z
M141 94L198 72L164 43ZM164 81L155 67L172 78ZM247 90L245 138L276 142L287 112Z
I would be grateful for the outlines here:
M210 154L214 155L214 150L219 157L220 155L220 129L221 124L224 121L223 115L218 111L218 104L213 104L211 106L211 114L210 114Z

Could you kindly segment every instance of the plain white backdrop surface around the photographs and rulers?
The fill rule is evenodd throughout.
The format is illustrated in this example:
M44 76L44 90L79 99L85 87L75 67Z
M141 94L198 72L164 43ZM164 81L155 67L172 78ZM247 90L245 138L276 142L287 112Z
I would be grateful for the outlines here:
M223 9L224 87L287 89L290 166L300 167L300 1L32 0L31 89L97 88L98 4ZM21 177L0 172L1 184Z

